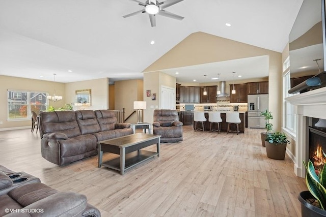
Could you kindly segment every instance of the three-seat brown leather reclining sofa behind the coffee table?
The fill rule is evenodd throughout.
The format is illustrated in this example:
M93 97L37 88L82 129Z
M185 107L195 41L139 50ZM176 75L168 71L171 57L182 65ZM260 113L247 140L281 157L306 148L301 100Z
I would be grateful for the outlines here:
M98 141L133 134L111 110L42 112L39 125L42 157L57 165L94 156Z

